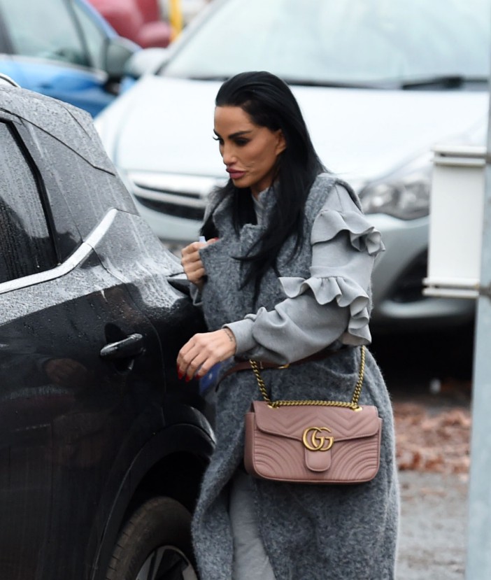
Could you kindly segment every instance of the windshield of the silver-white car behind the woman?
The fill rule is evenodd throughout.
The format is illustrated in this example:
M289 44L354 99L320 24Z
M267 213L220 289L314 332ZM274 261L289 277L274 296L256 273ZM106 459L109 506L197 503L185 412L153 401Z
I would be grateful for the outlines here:
M455 86L489 76L490 15L490 0L227 0L176 45L162 74Z

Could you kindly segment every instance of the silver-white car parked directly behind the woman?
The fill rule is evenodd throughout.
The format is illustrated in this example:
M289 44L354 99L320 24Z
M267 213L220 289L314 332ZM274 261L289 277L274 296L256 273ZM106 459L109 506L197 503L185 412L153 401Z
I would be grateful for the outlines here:
M96 125L141 215L185 243L227 178L213 141L218 87L240 71L276 73L322 161L383 233L373 327L462 322L472 302L421 292L432 148L484 143L490 15L491 0L214 0L171 48L132 57L146 73Z

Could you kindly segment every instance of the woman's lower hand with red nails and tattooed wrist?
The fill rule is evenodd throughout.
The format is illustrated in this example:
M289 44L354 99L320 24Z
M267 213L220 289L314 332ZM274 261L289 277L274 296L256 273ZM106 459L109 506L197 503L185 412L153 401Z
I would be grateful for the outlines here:
M194 334L194 337L180 349L177 358L179 379L190 381L201 379L217 362L227 360L235 354L236 341L229 328L214 332Z

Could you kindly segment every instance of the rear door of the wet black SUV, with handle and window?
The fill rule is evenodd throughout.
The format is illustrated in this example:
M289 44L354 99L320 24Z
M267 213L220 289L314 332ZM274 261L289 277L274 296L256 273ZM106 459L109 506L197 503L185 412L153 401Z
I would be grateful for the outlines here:
M138 448L161 427L148 408L164 392L162 353L92 250L108 223L83 243L67 211L56 231L63 211L48 206L26 135L1 113L0 570L75 580L122 441Z

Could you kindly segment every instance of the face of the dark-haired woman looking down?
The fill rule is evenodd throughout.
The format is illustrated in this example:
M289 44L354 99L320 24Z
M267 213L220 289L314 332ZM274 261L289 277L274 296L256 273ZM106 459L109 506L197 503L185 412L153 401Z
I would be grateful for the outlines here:
M285 150L280 129L271 131L252 122L243 108L215 108L215 135L220 155L237 188L250 188L252 195L269 188L276 174L276 160Z

